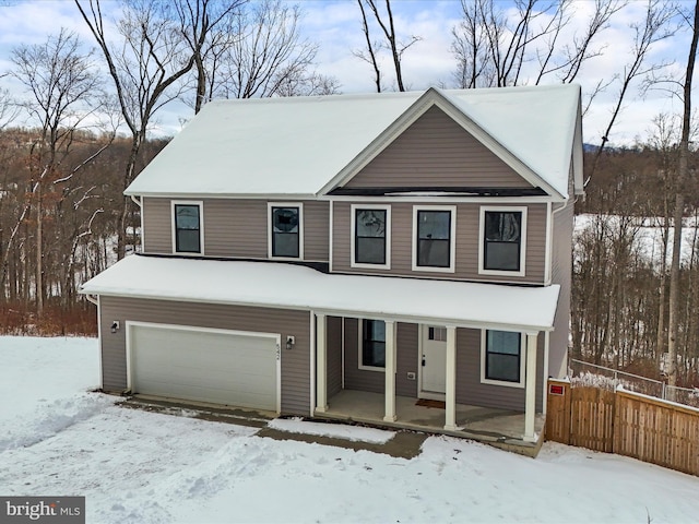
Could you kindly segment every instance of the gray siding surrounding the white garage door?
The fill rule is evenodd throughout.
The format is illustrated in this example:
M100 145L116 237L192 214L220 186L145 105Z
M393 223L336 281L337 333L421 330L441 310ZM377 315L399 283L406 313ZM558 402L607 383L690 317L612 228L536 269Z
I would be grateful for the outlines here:
M99 297L102 313L103 389L127 388L126 322L155 322L222 330L279 333L296 337L294 349L282 347L282 413L310 413L310 313L281 309L248 308L168 300ZM121 329L110 333L111 322Z

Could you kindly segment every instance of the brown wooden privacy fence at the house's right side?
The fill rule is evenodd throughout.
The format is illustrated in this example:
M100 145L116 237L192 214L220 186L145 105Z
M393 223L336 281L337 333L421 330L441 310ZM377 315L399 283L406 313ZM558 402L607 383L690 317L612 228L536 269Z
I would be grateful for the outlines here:
M546 440L699 476L699 409L638 393L550 379Z

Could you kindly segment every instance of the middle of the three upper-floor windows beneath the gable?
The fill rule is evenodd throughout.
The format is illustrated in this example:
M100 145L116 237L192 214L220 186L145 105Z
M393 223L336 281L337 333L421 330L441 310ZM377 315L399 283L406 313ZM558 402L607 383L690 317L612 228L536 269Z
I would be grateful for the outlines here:
M457 207L413 207L413 271L454 271Z

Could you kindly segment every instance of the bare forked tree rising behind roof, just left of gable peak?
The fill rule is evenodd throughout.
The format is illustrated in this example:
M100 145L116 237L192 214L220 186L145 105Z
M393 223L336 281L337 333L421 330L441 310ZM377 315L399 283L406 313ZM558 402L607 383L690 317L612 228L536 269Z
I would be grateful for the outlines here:
M395 33L395 24L393 20L393 11L391 10L391 0L386 0L386 13L382 13L377 5L377 0L357 0L362 12L362 29L367 43L366 52L354 51L354 56L370 63L374 68L375 83L377 92L381 92L381 71L378 62L378 53L383 48L391 53L393 61L393 70L395 72L395 83L398 91L405 91L405 82L403 81L403 53L407 48L422 40L422 37L411 35L407 41L400 41ZM378 24L382 41L374 41L370 36L367 10L374 14L374 20Z

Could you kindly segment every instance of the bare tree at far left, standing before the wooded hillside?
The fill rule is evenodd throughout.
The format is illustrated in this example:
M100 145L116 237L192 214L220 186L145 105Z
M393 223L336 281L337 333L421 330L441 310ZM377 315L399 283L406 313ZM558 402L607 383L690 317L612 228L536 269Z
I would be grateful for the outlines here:
M58 36L49 36L46 44L15 48L11 60L15 67L12 75L25 86L28 94L23 107L33 121L38 122L40 132L29 150L29 199L11 231L5 250L10 249L20 225L34 206L35 294L36 309L40 315L45 297L45 200L60 198L47 183L61 178L60 166L71 151L75 132L91 115L87 108L96 106L91 103L98 93L98 78L92 53L82 53L80 39L64 29Z

